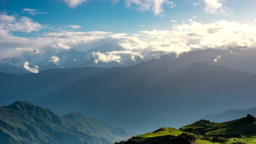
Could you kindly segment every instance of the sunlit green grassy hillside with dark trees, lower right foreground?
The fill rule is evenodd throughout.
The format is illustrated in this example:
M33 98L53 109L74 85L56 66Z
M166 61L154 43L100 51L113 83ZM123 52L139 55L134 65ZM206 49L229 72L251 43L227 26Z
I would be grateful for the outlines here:
M223 123L199 120L180 129L161 128L115 144L256 144L256 118Z

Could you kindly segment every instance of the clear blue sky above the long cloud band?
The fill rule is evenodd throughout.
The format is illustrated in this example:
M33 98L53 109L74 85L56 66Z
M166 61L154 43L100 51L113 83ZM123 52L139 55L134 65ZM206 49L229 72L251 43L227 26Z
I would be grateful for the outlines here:
M76 7L70 7L60 0L6 0L1 4L1 11L8 14L28 16L42 25L80 25L82 31L111 31L113 33L134 33L147 29L170 29L171 20L186 21L196 16L197 21L207 23L218 19L247 22L255 19L255 0L229 0L225 6L232 9L228 15L209 14L204 11L204 4L193 6L198 1L176 0L173 8L162 5L164 12L155 14L153 9L140 11L133 4L126 7L125 1L90 0ZM37 9L47 14L29 15L22 13L24 8ZM146 27L141 27L145 25Z

